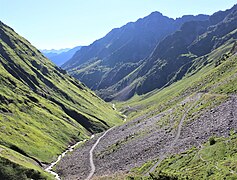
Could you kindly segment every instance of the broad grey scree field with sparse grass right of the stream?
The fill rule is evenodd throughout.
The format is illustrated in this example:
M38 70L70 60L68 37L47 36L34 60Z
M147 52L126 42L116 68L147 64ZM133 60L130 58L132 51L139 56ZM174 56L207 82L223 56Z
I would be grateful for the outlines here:
M220 96L220 97L219 97ZM222 97L223 96L223 97ZM207 97L222 98L218 106L195 112ZM202 148L209 137L228 137L237 128L237 97L197 93L153 117L147 114L109 131L94 150L92 179L149 175L171 154ZM67 155L57 166L64 179L85 179L90 172L89 151L100 135ZM143 167L142 172L139 168Z

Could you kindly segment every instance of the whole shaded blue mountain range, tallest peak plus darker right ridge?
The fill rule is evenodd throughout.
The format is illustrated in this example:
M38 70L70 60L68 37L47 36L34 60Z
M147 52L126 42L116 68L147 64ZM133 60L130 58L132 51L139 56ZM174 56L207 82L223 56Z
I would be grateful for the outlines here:
M235 37L234 34L228 35L236 29L235 10L236 6L210 17L183 16L176 20L155 12L112 30L104 38L78 51L62 67L105 100L126 100L135 93L141 95L181 79L192 66L193 59L208 54ZM161 23L157 26L162 28L155 28L156 23ZM152 27L150 31L144 30L147 24ZM123 46L108 55L111 44L106 46L106 42L110 42L107 39L118 44L120 36L117 31L127 35L127 39L132 37L132 40L122 41ZM146 35L142 34L143 31ZM156 40L152 33L157 33ZM137 41L134 41L136 38ZM151 45L153 43L155 45ZM94 55L93 52L99 54Z

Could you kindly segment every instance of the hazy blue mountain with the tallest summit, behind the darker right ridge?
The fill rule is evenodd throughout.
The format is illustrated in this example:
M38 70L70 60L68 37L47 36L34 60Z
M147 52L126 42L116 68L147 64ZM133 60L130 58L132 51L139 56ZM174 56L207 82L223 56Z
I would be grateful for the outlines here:
M183 16L176 20L154 12L113 29L90 46L83 47L62 67L93 90L107 89L134 71L158 42L187 21L208 16ZM106 90L107 91L107 90Z

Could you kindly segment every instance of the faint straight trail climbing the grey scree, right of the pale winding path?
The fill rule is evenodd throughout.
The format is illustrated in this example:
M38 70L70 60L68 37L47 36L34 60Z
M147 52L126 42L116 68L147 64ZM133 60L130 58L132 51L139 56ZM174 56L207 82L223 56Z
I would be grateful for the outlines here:
M153 172L156 167L161 163L161 161L163 161L166 157L166 155L170 152L170 150L174 147L174 145L177 143L179 137L180 137L180 134L181 134L181 129L182 129L182 125L183 125L183 122L188 114L188 112L194 107L196 101L198 101L201 97L201 94L198 93L197 94L197 97L195 97L194 99L194 102L193 104L184 112L180 122L179 122L179 125L178 125L178 131L177 131L177 134L173 140L173 142L171 143L171 145L169 146L168 148L168 151L166 151L166 153L162 154L160 157L159 157L159 160L154 164L154 166L151 167L151 169L145 174L145 176L148 176L151 172Z

